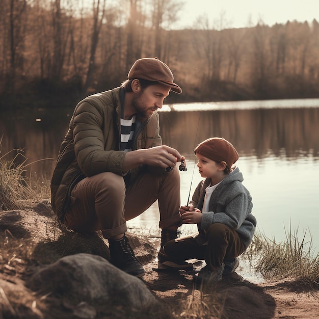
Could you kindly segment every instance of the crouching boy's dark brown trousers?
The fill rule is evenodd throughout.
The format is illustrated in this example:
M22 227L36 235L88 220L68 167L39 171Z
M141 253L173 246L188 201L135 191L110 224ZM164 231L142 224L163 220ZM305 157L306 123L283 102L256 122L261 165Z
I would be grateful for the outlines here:
M164 251L172 261L204 259L210 271L218 270L224 261L232 260L245 251L238 233L221 223L209 226L206 240L202 245L192 236L177 238L166 243Z

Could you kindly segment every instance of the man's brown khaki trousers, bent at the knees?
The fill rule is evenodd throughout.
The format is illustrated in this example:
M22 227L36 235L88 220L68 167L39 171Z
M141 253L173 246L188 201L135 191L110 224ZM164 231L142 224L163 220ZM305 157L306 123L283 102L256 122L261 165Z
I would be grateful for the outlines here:
M158 200L159 227L177 230L181 225L180 177L174 169L146 167L133 182L111 172L79 181L71 192L65 224L77 232L102 230L105 238L125 233L126 221Z

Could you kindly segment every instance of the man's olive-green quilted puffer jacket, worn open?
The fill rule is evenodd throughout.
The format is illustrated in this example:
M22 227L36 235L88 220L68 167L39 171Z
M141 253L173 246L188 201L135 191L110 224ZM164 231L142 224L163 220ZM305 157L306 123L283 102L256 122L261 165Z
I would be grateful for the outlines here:
M102 172L127 174L122 170L126 152L119 151L121 91L116 88L88 96L75 107L51 179L52 209L62 221L77 182ZM162 145L157 112L146 121L136 119L134 140L134 149Z

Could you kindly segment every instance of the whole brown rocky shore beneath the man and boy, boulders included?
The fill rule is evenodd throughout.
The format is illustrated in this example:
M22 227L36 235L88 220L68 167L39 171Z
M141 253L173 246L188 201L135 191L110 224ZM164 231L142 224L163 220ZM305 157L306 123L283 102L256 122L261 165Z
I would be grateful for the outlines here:
M0 210L0 318L318 318L315 291L290 279L256 281L245 261L214 287L198 290L194 271L158 269L159 238L128 233L145 275L109 261L108 242L61 227L50 203Z

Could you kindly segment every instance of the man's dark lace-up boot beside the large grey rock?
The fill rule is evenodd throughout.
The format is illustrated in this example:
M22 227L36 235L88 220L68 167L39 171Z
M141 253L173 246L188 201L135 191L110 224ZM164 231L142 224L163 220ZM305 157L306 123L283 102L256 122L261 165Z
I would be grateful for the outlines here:
M119 241L109 239L109 244L111 263L130 275L142 276L144 274L144 269L141 263L136 259L125 234Z

